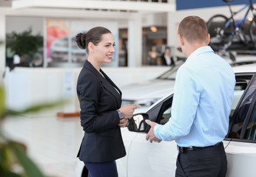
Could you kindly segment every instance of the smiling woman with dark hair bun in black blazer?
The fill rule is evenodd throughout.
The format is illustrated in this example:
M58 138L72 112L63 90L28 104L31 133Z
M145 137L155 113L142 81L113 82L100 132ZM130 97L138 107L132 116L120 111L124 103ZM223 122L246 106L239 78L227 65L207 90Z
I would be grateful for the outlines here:
M76 42L88 54L77 83L84 129L78 158L89 170L89 176L115 177L118 176L115 160L126 155L120 128L128 124L136 107L120 108L121 91L101 70L101 65L110 63L115 52L110 30L92 28L86 34L79 33Z

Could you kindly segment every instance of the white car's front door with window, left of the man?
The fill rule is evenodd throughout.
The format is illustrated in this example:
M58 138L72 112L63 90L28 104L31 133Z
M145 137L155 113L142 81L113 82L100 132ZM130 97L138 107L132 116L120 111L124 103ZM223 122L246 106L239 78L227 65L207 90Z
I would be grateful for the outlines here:
M148 119L164 124L170 117L171 105L172 95L150 109ZM138 133L129 147L127 176L175 176L177 154L174 141L150 144L145 132Z

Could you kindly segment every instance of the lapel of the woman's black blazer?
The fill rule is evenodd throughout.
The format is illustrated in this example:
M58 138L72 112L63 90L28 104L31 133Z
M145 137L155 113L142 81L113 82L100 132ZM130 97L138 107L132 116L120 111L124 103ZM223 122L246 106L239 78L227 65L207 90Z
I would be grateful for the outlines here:
M92 64L87 60L84 63L84 67L86 67L87 69L90 69L90 71L92 71L96 75L96 77L98 77L98 79L101 80L101 83L103 84L104 88L106 88L108 91L110 91L110 93L115 97L117 107L120 108L120 106L121 106L121 91L120 91L120 89L118 89L117 86L115 86L115 83L113 83L112 80L110 80L110 77L108 77L107 74L105 74L102 70L100 70L101 73L104 75L104 77L105 77L104 78L97 71L97 69L95 69L92 66ZM118 94L118 91L116 91L115 89L117 89L120 94Z

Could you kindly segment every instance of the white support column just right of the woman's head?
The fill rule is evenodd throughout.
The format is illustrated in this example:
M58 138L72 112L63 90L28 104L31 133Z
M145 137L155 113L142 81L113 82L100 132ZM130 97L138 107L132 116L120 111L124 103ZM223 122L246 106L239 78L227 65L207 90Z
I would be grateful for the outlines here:
M128 67L138 67L142 63L141 14L135 14L128 21Z

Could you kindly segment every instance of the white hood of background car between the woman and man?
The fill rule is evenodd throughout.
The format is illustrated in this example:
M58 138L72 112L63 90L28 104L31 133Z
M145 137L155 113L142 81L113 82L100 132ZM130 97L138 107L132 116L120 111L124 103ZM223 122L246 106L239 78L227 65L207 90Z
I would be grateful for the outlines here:
M175 80L149 80L122 86L122 100L160 99L174 89Z

